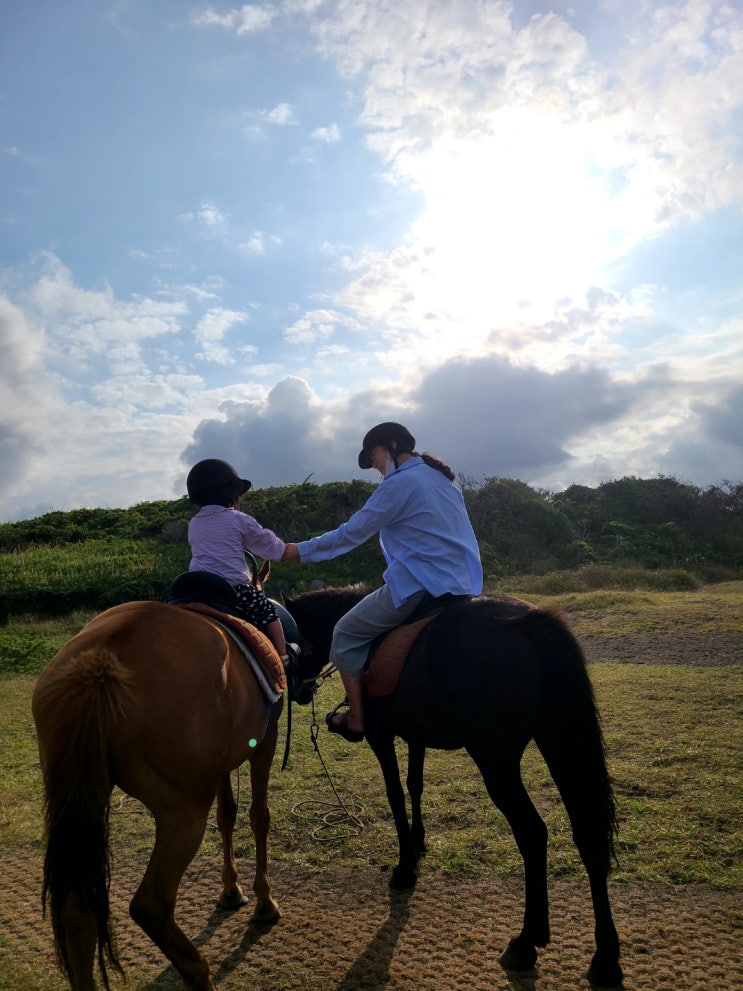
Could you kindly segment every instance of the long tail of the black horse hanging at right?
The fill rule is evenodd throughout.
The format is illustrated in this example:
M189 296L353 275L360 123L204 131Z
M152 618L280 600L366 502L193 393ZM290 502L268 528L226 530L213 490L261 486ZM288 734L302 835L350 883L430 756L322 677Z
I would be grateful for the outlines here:
M617 810L585 657L556 614L534 610L527 628L542 678L534 740L565 804L581 855L608 874L616 862Z

